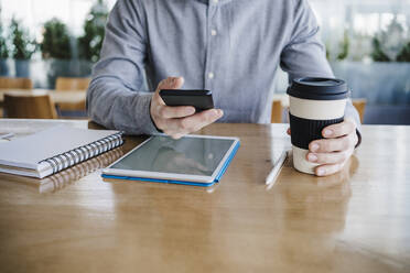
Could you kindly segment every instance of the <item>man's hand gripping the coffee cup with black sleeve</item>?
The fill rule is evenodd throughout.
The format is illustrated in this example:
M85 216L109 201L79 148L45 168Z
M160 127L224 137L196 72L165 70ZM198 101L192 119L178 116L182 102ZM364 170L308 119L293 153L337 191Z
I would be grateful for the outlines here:
M288 130L290 134L290 130ZM326 127L322 131L323 140L315 140L309 144L306 160L317 163L317 176L326 176L339 172L350 159L358 136L356 123L346 119L344 122Z

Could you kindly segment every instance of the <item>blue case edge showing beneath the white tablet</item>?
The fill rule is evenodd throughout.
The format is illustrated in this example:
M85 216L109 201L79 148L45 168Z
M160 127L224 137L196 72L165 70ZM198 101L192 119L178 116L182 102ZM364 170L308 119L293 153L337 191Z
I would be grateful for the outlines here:
M199 186L199 187L211 187L220 181L220 177L224 175L225 171L228 168L229 163L234 159L236 152L240 146L240 142L236 144L228 159L220 168L219 174L215 177L215 181L211 183L199 183L199 182L186 182L186 181L171 181L171 179L153 179L153 178L142 178L142 177L132 177L132 176L118 176L118 175L107 175L101 174L104 178L114 178L114 179L126 179L126 181L142 181L142 182L155 182L155 183L169 183L169 184L180 184L180 185L190 185L190 186Z

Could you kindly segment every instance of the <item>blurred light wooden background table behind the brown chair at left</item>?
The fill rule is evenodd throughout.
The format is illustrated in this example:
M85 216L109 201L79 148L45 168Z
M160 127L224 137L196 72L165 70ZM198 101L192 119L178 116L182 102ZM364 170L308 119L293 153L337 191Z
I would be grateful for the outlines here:
M55 91L48 89L32 89L32 90L22 90L22 89L0 89L0 106L4 101L4 94L15 94L15 95L44 95L50 94L51 98L56 105L60 103L85 103L87 92L84 90L65 90L65 91Z

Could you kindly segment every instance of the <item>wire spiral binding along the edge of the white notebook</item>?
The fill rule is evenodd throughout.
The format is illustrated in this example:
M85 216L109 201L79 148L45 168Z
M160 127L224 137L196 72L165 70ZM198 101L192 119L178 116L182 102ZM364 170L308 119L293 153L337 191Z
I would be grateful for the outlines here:
M101 140L95 141L84 146L76 148L66 153L55 155L53 157L43 160L39 164L47 163L52 168L53 173L58 173L62 170L74 166L83 161L95 157L101 153L108 152L117 146L122 145L122 132L109 135Z

